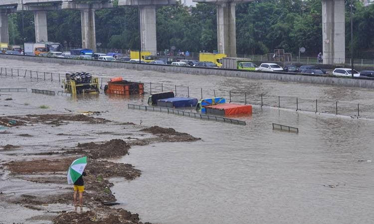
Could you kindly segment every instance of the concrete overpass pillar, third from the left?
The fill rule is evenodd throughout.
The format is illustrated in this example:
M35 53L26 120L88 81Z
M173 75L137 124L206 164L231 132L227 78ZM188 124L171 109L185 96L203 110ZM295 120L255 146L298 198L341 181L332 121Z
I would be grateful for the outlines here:
M95 9L81 9L82 47L96 52Z

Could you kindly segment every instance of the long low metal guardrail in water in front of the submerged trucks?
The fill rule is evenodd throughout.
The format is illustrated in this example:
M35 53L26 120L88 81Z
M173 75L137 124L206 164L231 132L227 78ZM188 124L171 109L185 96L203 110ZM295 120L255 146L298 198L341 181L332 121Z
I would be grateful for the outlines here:
M152 106L144 106L144 105L136 105L136 104L128 104L127 106L129 109L137 109L137 110L143 110L143 111L155 111L155 112L168 112L168 113L173 113L173 114L182 115L182 116L189 116L193 118L215 120L215 121L221 121L221 122L239 124L239 125L246 125L246 122L243 120L231 119L231 118L227 118L223 116L201 114L201 113L196 113L196 112L187 112L187 111L177 110L173 108L161 108L161 107L152 107Z

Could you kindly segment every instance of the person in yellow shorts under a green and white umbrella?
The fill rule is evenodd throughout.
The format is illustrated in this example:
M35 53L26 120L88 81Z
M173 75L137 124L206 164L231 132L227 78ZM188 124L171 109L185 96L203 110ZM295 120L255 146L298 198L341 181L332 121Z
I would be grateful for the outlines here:
M79 206L83 206L84 181L82 176L86 176L84 168L87 165L87 156L74 160L67 171L68 184L74 184L74 206L77 204L77 194L79 192Z

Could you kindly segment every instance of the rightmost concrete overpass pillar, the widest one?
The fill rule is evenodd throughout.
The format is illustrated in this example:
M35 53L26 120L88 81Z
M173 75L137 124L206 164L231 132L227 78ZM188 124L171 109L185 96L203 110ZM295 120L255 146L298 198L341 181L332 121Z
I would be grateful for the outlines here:
M342 64L346 61L344 4L345 0L322 0L324 64Z

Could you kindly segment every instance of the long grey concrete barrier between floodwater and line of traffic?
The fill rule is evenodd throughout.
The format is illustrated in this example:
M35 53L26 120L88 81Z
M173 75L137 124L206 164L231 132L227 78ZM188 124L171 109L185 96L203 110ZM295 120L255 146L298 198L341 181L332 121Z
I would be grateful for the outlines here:
M350 79L337 78L328 76L305 75L300 73L282 73L282 72L259 72L259 71L242 71L235 69L221 69L221 68L198 68L198 67L183 67L183 66L169 66L169 65L155 65L155 64L136 64L124 62L106 62L94 60L77 60L69 58L48 58L27 55L9 55L0 54L0 58L32 61L38 63L58 63L58 64L73 64L73 65L91 65L107 68L124 68L131 70L149 70L156 72L172 72L181 74L193 75L217 75L225 77L240 77L255 80L277 80L283 82L296 82L308 84L321 84L330 86L344 86L357 88L374 88L374 79Z

